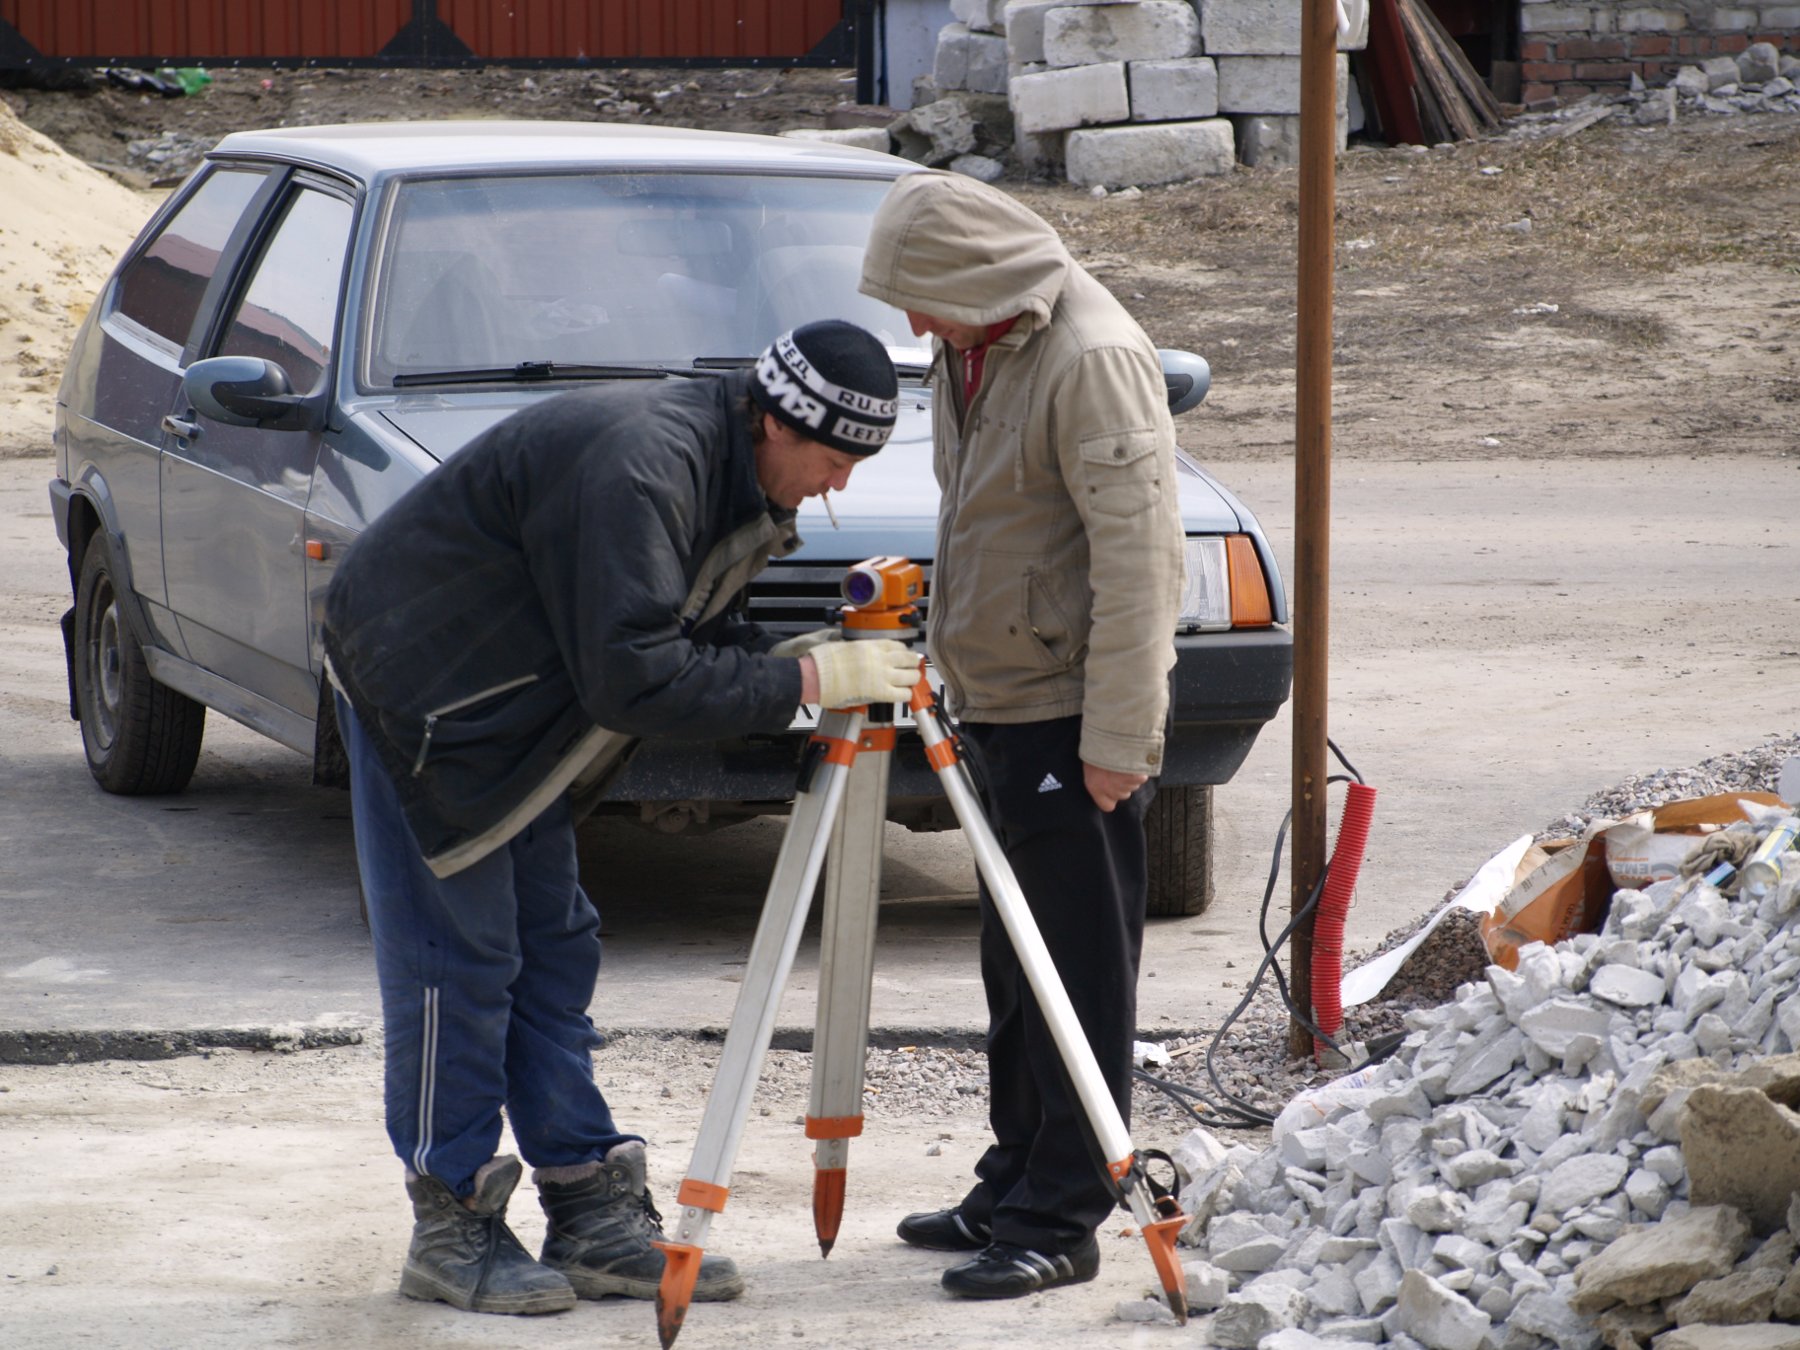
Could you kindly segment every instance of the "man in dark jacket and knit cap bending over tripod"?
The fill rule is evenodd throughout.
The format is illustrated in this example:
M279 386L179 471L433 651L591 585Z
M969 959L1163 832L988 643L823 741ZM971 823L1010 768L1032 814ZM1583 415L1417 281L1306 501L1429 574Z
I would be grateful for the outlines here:
M634 738L774 733L801 702L902 700L900 643L776 643L734 614L794 508L886 443L898 383L844 322L752 371L619 382L477 437L362 535L326 596L356 860L414 1206L403 1294L477 1312L653 1298L644 1145L594 1084L599 916L571 797ZM506 1228L517 1157L542 1260ZM695 1298L743 1280L709 1256Z

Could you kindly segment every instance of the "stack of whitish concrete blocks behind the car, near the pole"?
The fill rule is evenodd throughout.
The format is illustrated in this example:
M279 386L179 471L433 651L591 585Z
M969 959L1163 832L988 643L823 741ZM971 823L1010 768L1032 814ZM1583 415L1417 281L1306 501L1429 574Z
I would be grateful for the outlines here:
M1184 182L1300 151L1296 0L950 0L940 94L1004 92L1028 173L1085 187ZM1368 41L1348 0L1339 52ZM1337 58L1337 144L1348 135Z

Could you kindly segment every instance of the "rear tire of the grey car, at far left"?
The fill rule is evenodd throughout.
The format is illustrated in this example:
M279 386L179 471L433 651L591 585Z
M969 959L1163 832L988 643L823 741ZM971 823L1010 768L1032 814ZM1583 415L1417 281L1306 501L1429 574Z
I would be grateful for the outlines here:
M108 792L180 792L200 761L205 704L157 684L117 590L112 553L99 536L76 583L76 709L88 772Z

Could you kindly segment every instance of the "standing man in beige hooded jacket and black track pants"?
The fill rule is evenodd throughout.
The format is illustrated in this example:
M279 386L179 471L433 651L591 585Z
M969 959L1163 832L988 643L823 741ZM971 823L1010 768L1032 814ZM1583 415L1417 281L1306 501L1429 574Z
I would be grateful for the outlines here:
M1044 220L972 178L900 178L862 292L938 338L943 490L929 652L1103 1076L1127 1114L1183 587L1175 432L1156 347ZM900 1237L972 1251L965 1298L1091 1280L1116 1193L1024 972L981 896L994 1143L952 1210Z

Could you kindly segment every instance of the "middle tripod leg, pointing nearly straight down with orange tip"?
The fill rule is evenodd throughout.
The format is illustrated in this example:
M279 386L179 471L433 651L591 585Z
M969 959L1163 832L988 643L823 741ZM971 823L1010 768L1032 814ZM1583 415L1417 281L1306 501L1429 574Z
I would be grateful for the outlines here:
M824 869L819 1019L806 1111L806 1138L817 1139L812 1154L812 1222L823 1256L832 1255L844 1217L850 1141L862 1134L862 1069L869 1048L875 911L882 889L882 826L887 823L893 745L893 725L864 729Z

